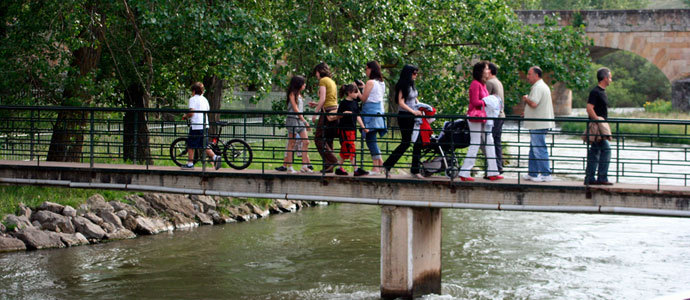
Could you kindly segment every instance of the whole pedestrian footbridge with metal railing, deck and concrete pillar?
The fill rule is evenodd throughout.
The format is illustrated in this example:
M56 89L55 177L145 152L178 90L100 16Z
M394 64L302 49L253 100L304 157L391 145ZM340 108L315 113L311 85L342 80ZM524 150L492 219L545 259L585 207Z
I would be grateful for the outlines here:
M226 122L219 138L241 138L251 145L253 160L243 170L175 166L171 143L185 136L187 127L162 116L181 115L182 110L0 107L0 112L5 116L0 118L0 184L379 205L383 298L440 293L443 208L690 217L686 120L609 119L614 131L609 179L615 184L593 186L582 184L588 145L579 139L582 131L572 127L586 128L588 121L581 118L555 119L559 128L547 136L554 181L520 180L526 173L529 135L519 118L507 118L506 178L483 180L480 167L475 182L460 182L443 174L413 178L404 172L409 168L405 160L390 178L274 171L285 155L294 154L285 154L285 129L275 121L281 114L276 112L219 111ZM135 117L121 117L127 113ZM465 118L435 117L438 123ZM379 140L384 156L399 141L391 129ZM369 169L363 148L360 141L358 165ZM316 151L308 153L320 169ZM456 155L462 160L463 150Z

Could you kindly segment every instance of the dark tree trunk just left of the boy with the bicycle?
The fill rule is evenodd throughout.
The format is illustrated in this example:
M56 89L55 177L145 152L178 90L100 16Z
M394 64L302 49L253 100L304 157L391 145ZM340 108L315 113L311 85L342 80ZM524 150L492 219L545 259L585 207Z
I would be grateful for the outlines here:
M148 105L144 88L138 83L132 83L125 90L125 102L128 108L146 108ZM122 144L124 160L153 164L146 113L125 112Z

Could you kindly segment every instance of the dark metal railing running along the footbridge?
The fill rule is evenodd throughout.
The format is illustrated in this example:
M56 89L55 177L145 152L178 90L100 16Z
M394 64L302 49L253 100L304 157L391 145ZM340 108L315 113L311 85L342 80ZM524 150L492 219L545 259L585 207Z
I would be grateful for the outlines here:
M75 107L10 107L0 106L0 160L35 161L40 165L49 154L63 160L98 164L143 164L146 166L174 166L170 158L170 145L178 137L188 134L188 127L181 116L186 110L177 109L117 109ZM126 118L126 114L130 114ZM252 149L254 159L249 169L273 171L282 165L286 153L287 131L284 120L288 113L272 111L219 110L220 120L227 122L221 139L241 138ZM311 119L314 113L304 113ZM381 116L381 115L379 115ZM395 114L383 115L388 124L388 134L378 139L384 160L400 143L400 132ZM436 115L432 127L439 132L444 121L466 119L465 115ZM125 121L128 120L128 121ZM504 176L517 178L527 172L529 131L520 123L524 118L504 119L502 144ZM543 119L529 119L540 120ZM557 181L582 181L587 164L589 144L580 138L587 124L586 118L556 118L558 126L547 133L549 166ZM613 139L609 178L615 182L687 186L690 173L689 120L652 120L611 118L609 123ZM147 157L141 157L139 134L132 130L145 124L148 129ZM65 125L67 127L60 127ZM314 125L311 126L314 128ZM60 134L63 139L55 135ZM309 156L316 174L322 163L314 146L314 130L309 132ZM65 139L66 137L66 139ZM358 132L356 161L365 169L371 168L369 151ZM335 151L339 149L335 139ZM52 145L52 149L51 149ZM395 168L406 172L410 168L411 149ZM62 149L63 155L56 155ZM125 152L130 155L126 156ZM455 151L458 164L462 165L466 149ZM293 160L300 165L296 152ZM337 155L337 153L335 153ZM484 174L485 163L477 160L475 176ZM346 163L346 166L348 164ZM296 168L297 169L297 168ZM204 172L210 169L203 168ZM237 171L241 172L241 171ZM443 174L438 174L443 176Z

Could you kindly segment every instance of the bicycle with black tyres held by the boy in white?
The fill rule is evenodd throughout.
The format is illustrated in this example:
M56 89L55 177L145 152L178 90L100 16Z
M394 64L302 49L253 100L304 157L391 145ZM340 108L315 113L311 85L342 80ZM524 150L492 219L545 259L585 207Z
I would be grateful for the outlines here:
M235 170L242 170L249 167L253 158L252 148L249 144L242 139L232 139L227 143L223 142L220 139L220 134L223 127L228 125L228 122L219 121L214 122L214 124L218 125L218 133L209 136L208 141L208 146L213 150L213 153L222 155L225 162ZM187 126L191 126L191 124L187 122ZM204 149L195 149L195 164L203 157L202 150ZM187 163L187 153L186 137L177 138L170 144L170 158L177 166L182 166ZM213 163L210 157L207 157L207 162Z

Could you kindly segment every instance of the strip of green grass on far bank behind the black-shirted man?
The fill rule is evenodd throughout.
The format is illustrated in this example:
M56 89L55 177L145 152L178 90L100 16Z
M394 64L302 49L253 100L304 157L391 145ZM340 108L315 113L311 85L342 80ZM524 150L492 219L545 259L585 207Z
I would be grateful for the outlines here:
M666 119L666 120L690 120L688 113L650 113L650 112L635 112L629 114L612 114L611 118L644 118L644 119ZM687 125L669 125L669 124L633 124L621 123L616 127L616 124L609 123L611 130L615 135L619 135L628 139L639 141L654 141L659 143L672 144L690 144L690 136L688 132L690 126ZM585 131L585 123L561 123L563 132L582 134Z

